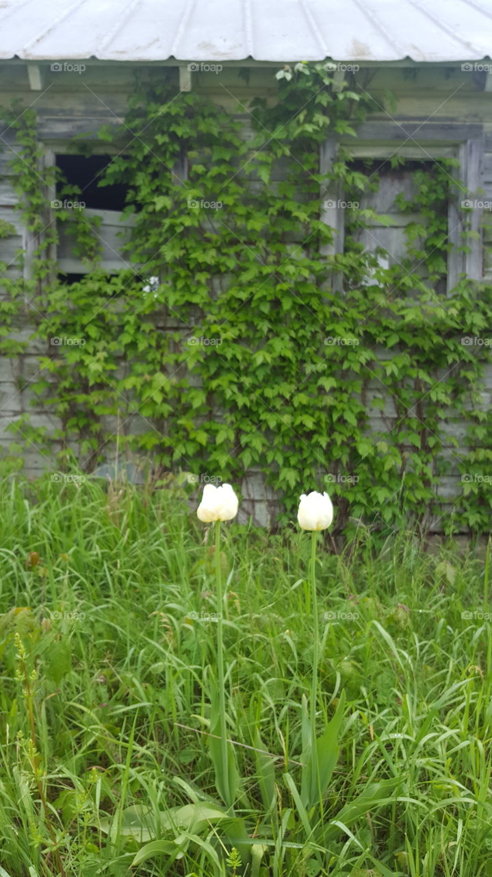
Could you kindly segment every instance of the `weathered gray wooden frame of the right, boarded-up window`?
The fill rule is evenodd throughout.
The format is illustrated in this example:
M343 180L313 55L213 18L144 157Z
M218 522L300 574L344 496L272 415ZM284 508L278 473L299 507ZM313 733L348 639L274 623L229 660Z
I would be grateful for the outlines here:
M405 127L414 130L406 131ZM481 186L482 125L431 122L399 125L397 122L366 122L360 125L355 141L329 138L321 145L321 174L329 173L333 167L339 145L343 146L351 157L361 159L385 160L395 154L409 160L457 158L459 167L456 169L456 174L463 182L466 191L462 196L454 195L448 207L448 240L454 246L447 254L447 295L459 281L460 275L466 275L470 280L475 281L483 279L482 210L474 206L471 211L465 212L461 207L462 201L477 200ZM343 253L344 212L340 207L342 200L343 191L339 183L334 182L332 186L327 185L322 188L320 218L334 229L333 242L322 247L321 253L325 256ZM330 202L330 205L326 206L326 202ZM465 224L469 224L469 230L475 232L475 235L467 240L467 253L457 249L462 246L461 235ZM335 288L337 287L340 287L340 278L335 278Z

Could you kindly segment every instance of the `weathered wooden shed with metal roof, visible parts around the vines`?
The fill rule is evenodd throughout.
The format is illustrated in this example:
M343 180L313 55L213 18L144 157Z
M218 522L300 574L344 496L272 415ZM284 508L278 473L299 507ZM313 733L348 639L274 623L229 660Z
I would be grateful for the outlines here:
M463 275L492 281L492 237L484 223L492 204L490 46L491 0L5 0L0 8L0 105L8 108L20 100L18 114L35 112L39 191L46 197L51 222L56 223L58 193L46 172L55 166L83 192L85 215L102 218L101 267L111 274L129 265L128 255L121 252L120 232L126 226L130 232L132 218L121 221L123 185L98 187L97 176L117 149L98 141L91 154L77 152L74 137L90 139L102 125L121 124L136 71L145 81L158 82L163 71L174 69L178 90L194 91L234 113L245 137L250 132L250 98L275 102L283 68L288 73L299 61L322 62L334 71L334 88L347 77L366 82L370 74L374 107L369 117L358 125L356 137L327 137L320 147L320 169L330 168L340 144L355 168L363 161L366 167L376 162L380 186L376 194L362 195L362 207L390 215L392 222L383 227L374 220L371 226L369 220L360 240L368 250L377 247L381 264L391 266L404 253L406 226L415 221L400 209L397 195L411 193L416 168L456 159L466 193L461 201L448 203L448 236L456 246L447 253L439 290L446 293ZM389 90L395 98L391 109L385 103ZM11 162L19 149L16 131L11 122L0 127L0 220L11 230L0 238L5 295L20 275L31 276L32 253L39 243L18 210ZM390 162L395 155L397 171ZM279 178L281 173L280 167ZM328 257L343 253L345 206L338 190L320 197L320 217L334 229ZM463 248L458 245L465 222L475 233ZM22 265L19 250L24 253ZM65 282L77 282L90 270L61 227L54 251ZM28 314L16 325L15 338L25 342L23 349L3 350L0 357L0 444L7 455L19 440L11 424L24 414L34 427L48 432L63 425L32 393L39 356L53 350L31 339ZM492 370L487 375L482 393L486 408L492 398ZM386 400L385 410L369 415L371 429L386 432L389 423L397 422L397 411L377 383L369 382L369 393ZM129 428L138 429L137 421L136 412ZM449 429L462 438L456 424ZM446 434L446 423L443 430ZM446 447L441 450L446 454ZM27 440L25 471L39 474L49 463L36 442ZM461 477L458 465L443 477L443 500L456 495ZM261 473L253 467L241 489L246 497L242 509L266 523L272 496Z

